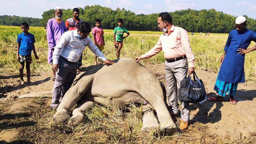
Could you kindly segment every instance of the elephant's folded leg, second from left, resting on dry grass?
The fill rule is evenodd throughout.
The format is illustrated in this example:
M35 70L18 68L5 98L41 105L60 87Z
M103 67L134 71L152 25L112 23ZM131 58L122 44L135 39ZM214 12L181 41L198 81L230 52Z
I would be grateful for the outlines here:
M81 100L78 104L77 104L77 108L75 108L72 112L72 117L70 118L70 120L68 121L69 125L73 125L73 126L77 126L79 124L81 124L84 120L84 113L86 113L86 111L91 110L92 106L95 104L95 102L92 102L90 100L87 99L83 99Z

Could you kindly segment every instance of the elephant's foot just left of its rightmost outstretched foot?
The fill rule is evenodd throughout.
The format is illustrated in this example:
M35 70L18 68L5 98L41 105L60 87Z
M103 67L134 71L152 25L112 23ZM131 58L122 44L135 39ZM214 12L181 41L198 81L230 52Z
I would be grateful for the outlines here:
M159 126L158 120L153 111L145 112L143 115L143 126L141 132L151 132Z

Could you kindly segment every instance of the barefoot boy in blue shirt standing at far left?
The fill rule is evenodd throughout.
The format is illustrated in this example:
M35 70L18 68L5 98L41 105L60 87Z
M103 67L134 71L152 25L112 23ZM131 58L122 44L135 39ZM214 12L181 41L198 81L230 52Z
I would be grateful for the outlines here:
M21 29L23 33L17 36L17 61L20 63L19 67L19 76L20 76L20 84L26 85L23 80L23 69L26 61L26 69L27 69L27 84L31 84L30 81L30 64L32 62L31 51L33 50L35 58L39 59L36 50L35 50L35 37L33 34L28 32L29 26L28 23L22 23Z

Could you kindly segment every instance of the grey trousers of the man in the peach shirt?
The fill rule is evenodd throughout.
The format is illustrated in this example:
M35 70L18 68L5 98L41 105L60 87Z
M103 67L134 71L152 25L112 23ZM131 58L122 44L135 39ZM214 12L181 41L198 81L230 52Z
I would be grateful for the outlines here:
M178 91L180 81L186 78L188 72L187 59L178 60L172 63L165 61L165 79L167 86L167 96L172 113L177 115L179 112ZM181 118L189 121L189 103L181 102L182 109L180 111Z

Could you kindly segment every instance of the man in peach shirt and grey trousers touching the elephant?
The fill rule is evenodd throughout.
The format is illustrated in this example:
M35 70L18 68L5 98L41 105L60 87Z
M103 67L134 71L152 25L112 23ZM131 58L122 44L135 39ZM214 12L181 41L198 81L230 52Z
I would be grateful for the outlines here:
M163 50L166 59L165 79L167 96L170 107L172 108L172 114L178 117L179 105L177 88L180 87L180 81L187 77L187 73L194 73L195 56L191 51L187 31L174 26L172 24L172 16L170 16L169 13L160 13L157 23L164 34L160 36L155 47L144 55L136 57L135 60L138 62L141 59L150 58ZM182 109L180 115L182 121L179 128L186 130L189 121L189 103L181 102L181 105Z

